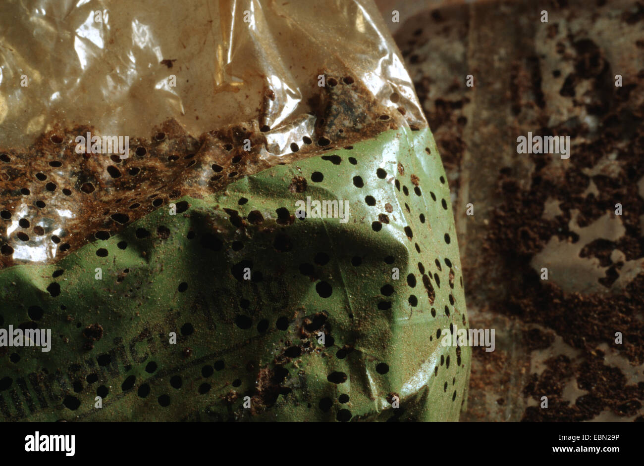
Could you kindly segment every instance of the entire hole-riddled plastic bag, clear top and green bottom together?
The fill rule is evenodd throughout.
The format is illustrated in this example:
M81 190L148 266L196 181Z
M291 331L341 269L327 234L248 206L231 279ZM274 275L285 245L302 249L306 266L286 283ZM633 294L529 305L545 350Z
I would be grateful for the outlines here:
M372 3L0 8L0 328L52 334L0 346L0 417L459 419L450 193Z

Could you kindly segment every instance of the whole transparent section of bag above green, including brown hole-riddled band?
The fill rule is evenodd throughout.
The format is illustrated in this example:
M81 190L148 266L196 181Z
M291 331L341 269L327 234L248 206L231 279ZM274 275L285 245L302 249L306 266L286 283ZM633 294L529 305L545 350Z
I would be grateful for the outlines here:
M128 220L149 213L135 195L122 199L135 185L202 195L384 125L426 126L370 1L6 1L0 33L0 196L13 219L0 267L74 251L84 229L111 229L99 214L116 202L143 204ZM116 143L111 157L78 154L88 132L129 138L129 157ZM182 163L177 150L196 156ZM213 173L240 154L223 174L232 177ZM144 181L128 183L132 174ZM15 238L18 219L57 242Z

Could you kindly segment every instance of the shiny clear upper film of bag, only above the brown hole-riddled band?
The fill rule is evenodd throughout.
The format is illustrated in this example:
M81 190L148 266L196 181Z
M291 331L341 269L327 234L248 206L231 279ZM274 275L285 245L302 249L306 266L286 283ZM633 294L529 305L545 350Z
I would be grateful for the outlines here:
M8 0L0 44L0 141L12 147L57 124L149 137L167 118L195 137L252 120L286 139L315 110L321 69L424 122L369 1Z

